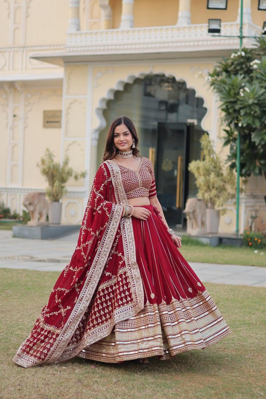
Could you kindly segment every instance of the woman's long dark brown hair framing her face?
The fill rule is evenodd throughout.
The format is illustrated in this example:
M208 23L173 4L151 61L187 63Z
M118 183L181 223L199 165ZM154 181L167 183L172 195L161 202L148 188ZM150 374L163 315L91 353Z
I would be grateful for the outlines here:
M133 138L135 138L136 148L132 148L133 155L140 156L139 149L138 149L139 138L138 138L137 131L136 131L136 128L135 128L132 120L127 117L118 117L112 122L111 126L109 127L108 133L107 133L105 150L104 150L104 155L103 155L104 161L106 161L107 159L113 159L115 157L117 148L115 147L115 144L113 142L113 135L114 135L116 126L119 126L122 123L127 126L128 130L132 134Z

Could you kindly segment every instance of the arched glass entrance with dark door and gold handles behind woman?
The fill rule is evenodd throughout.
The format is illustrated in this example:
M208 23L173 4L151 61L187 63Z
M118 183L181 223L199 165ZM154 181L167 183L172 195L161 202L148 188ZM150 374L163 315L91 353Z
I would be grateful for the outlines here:
M103 111L107 127L99 134L98 163L111 122L120 115L132 119L140 152L153 162L157 196L171 225L184 226L185 202L197 194L187 165L200 158L201 121L206 108L195 94L185 81L175 77L147 75L116 91Z

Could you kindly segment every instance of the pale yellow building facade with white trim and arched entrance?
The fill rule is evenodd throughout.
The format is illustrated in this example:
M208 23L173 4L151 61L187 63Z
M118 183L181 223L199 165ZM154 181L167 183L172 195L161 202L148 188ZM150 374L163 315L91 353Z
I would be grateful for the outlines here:
M257 0L244 0L246 36L260 34L265 14ZM206 0L10 0L0 2L0 15L4 203L22 213L24 194L45 190L36 164L48 147L88 172L69 181L62 199L62 223L80 223L109 124L127 115L141 154L154 162L158 198L169 220L182 225L185 200L197 193L187 164L200 156L200 135L208 132L226 158L217 98L204 77L239 40L207 31L208 19L220 18L221 34L237 35L238 0L228 0L227 10L207 10ZM62 111L60 127L47 127L44 111ZM265 229L265 192L264 178L248 179L240 232L251 215L256 229ZM234 233L235 205L226 208L219 231Z

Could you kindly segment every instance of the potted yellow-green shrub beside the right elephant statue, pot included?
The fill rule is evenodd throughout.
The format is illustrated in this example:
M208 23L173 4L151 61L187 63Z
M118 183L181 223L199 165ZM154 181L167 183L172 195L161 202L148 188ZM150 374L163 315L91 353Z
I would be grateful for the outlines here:
M189 171L195 176L197 197L203 199L207 207L207 233L218 233L219 208L222 208L228 199L234 198L236 178L229 167L224 167L207 133L200 138L200 144L203 159L192 161ZM222 209L222 212L225 211L226 209Z

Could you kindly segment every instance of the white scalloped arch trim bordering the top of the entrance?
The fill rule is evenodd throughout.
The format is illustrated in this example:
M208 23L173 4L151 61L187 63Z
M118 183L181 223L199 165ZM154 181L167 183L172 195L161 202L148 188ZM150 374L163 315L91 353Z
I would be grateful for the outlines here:
M156 72L154 73L152 70L150 72L139 72L135 75L128 75L127 78L125 80L119 80L117 81L116 85L114 88L111 88L107 91L106 96L102 97L99 100L99 105L98 107L95 109L95 113L97 115L97 117L99 118L99 124L96 128L94 128L91 132L91 137L92 137L92 145L97 146L98 144L98 138L99 138L99 133L101 132L101 130L103 130L106 127L106 120L103 117L103 111L107 108L107 101L108 100L113 100L115 98L115 92L116 91L123 91L124 87L127 83L131 83L133 84L135 79L144 79L145 76L147 75L163 75L165 77L170 77L170 78L175 78L176 81L184 81L186 83L186 87L187 89L193 89L195 91L195 97L197 98L201 98L203 100L203 105L202 107L206 108L206 114L204 115L204 117L202 118L201 122L200 122L200 126L202 128L202 130L204 131L208 131L208 129L204 128L204 122L206 120L206 118L208 117L209 113L210 113L210 108L207 106L206 103L206 98L202 95L198 94L198 90L189 85L189 82L187 80L187 78L182 77L182 76L177 76L175 73L167 73L165 71L160 71L160 72Z

